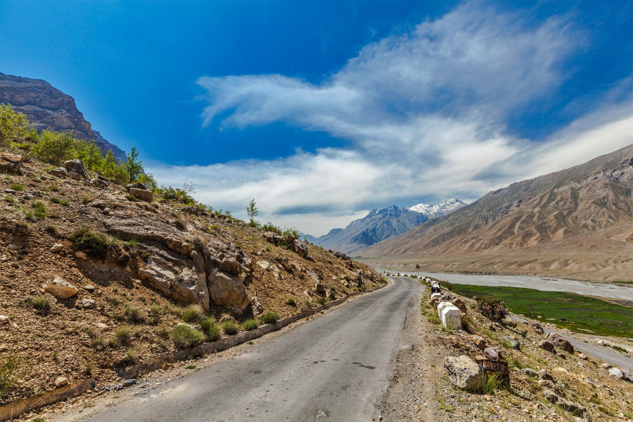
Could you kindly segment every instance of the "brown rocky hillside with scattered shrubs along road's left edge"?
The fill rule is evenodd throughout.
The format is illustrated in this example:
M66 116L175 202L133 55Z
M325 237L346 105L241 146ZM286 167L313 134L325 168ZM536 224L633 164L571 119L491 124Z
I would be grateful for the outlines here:
M78 160L3 153L0 169L1 402L90 376L103 385L115 368L384 283L345 255Z

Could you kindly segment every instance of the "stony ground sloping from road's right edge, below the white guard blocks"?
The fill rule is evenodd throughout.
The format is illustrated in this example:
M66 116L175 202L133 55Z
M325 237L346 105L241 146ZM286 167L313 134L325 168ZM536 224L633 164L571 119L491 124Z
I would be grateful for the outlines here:
M449 356L464 356L470 362L471 358L482 355L484 347L498 350L508 362L510 386L492 384L478 391L458 388L456 384L465 387L463 373L461 378L457 376L454 366L445 360L443 374L436 385L442 417L429 420L617 421L633 418L632 373L574 350L564 338L544 333L535 321L517 324L506 319L496 323L476 312L475 305L466 298L448 293L442 300L460 304L466 331L442 329L436 304L429 303L427 292L421 309L423 319L434 326L431 331L434 342L448 348ZM422 345L427 343L426 339L422 341ZM430 370L418 359L411 371L422 369Z

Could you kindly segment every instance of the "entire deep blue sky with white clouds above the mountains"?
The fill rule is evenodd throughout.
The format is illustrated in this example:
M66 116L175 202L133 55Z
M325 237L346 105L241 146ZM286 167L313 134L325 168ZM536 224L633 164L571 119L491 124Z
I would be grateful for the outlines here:
M633 142L630 1L1 2L0 72L165 184L323 234Z

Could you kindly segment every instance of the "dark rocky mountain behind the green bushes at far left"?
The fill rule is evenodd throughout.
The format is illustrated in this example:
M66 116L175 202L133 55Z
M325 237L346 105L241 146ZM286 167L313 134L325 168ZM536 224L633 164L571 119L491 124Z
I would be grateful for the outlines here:
M77 110L75 99L45 80L0 73L0 103L10 104L16 112L27 115L30 124L38 132L44 129L70 129L75 137L94 140L104 154L110 150L117 160L125 160L123 150L92 129L84 115Z

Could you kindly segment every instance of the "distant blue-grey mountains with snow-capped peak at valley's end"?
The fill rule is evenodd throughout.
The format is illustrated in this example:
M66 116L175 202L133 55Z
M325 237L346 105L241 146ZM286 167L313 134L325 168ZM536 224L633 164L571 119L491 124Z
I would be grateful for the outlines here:
M430 218L446 215L466 205L451 198L437 205L420 203L411 208L396 207L371 210L365 217L354 220L344 229L332 229L316 238L304 234L308 241L325 249L354 253L379 241L398 236Z

